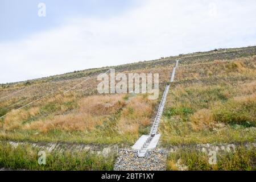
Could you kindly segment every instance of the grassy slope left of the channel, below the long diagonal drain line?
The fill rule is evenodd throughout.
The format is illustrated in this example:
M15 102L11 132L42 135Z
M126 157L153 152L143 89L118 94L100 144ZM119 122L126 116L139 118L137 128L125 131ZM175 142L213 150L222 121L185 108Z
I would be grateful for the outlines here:
M55 97L41 107L11 111L1 122L0 138L132 144L150 126L155 105L147 96L114 94L72 99Z

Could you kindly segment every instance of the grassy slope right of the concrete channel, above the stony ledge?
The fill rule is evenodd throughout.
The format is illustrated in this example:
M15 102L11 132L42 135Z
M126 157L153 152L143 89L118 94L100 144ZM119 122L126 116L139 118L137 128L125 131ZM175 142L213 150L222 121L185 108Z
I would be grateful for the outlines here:
M253 56L178 68L180 82L170 90L160 123L162 144L254 141L255 61ZM198 81L183 82L192 78Z

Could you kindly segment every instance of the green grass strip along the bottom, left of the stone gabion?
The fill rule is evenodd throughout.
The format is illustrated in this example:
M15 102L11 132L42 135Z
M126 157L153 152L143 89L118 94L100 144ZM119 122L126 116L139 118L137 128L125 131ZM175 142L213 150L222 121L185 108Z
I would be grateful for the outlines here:
M90 154L89 152L46 152L46 165L38 164L39 149L30 145L1 143L0 167L30 170L113 170L115 156Z

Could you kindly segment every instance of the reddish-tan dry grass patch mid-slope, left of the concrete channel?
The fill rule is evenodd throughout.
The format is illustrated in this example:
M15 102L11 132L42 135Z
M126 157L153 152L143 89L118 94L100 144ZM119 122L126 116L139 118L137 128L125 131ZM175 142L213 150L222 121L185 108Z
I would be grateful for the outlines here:
M53 99L53 101L55 101ZM123 96L90 96L79 102L76 113L55 115L52 118L27 123L24 130L39 130L47 133L51 130L85 131L101 125L107 115L114 114L125 106Z

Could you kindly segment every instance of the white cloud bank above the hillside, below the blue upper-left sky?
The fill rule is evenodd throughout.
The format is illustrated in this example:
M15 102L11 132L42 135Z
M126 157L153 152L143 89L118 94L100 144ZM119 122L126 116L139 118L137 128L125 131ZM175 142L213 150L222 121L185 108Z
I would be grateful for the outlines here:
M256 43L256 1L144 1L115 18L0 43L0 82Z

